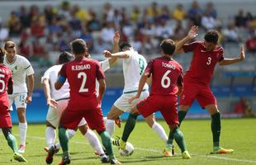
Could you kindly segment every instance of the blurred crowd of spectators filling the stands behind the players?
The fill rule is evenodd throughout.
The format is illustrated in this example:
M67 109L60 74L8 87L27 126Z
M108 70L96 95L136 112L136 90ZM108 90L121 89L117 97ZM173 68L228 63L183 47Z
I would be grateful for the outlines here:
M245 42L249 51L256 51L256 19L242 9L227 24L223 24L212 2L205 7L192 2L186 11L182 4L174 10L152 2L148 7L134 6L128 14L126 7L114 8L106 3L101 12L92 8L62 2L60 7L21 6L10 13L7 21L0 20L0 43L10 38L18 40L20 54L31 59L49 58L51 51L69 50L69 42L82 38L89 52L102 54L111 50L112 36L121 32L121 40L130 41L141 54L159 52L159 40L181 40L192 25L202 31L216 28L220 44ZM245 31L245 37L239 31Z

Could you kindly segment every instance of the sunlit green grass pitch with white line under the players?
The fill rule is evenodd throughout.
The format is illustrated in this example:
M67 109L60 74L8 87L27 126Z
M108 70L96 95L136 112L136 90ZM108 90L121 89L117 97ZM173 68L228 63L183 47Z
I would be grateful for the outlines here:
M168 132L168 126L164 121L159 121ZM115 147L116 158L123 164L256 164L256 119L232 119L221 120L221 146L235 149L231 154L209 154L212 149L211 120L184 120L181 130L186 139L187 148L192 159L183 160L177 144L175 156L164 158L164 143L149 129L145 121L137 123L135 130L130 136L130 143L134 145L135 152L130 157L121 157ZM115 135L121 136L124 123L121 129L116 127ZM13 126L13 134L17 137L17 125ZM77 133L69 141L71 164L101 164L99 158L93 153L92 147L80 133ZM12 151L7 146L3 134L0 134L0 164L20 164L13 160ZM19 143L18 143L19 144ZM26 153L24 157L26 164L45 164L45 125L28 125ZM56 154L54 163L58 164L62 151ZM11 162L12 159L12 162Z

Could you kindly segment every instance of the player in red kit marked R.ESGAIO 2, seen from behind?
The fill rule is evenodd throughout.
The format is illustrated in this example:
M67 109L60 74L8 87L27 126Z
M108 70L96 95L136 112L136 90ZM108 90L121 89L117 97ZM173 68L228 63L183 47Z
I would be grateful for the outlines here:
M111 164L119 163L113 153L111 137L107 133L100 103L106 90L105 76L97 60L89 59L88 48L84 40L77 39L71 43L75 59L63 65L59 72L59 78L55 82L58 90L65 80L69 81L70 100L64 110L59 124L59 142L63 149L63 158L60 164L69 164L69 138L67 129L75 129L84 117L88 126L102 138L102 144L106 148ZM96 78L99 82L99 94L96 97Z

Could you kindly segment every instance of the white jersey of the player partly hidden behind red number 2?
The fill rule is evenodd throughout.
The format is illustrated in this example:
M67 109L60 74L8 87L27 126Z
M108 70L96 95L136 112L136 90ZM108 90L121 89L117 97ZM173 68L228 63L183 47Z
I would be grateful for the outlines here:
M61 67L62 67L62 64L58 64L48 68L45 71L44 76L41 78L41 83L43 83L45 79L49 80L50 96L55 100L69 98L69 82L68 81L64 82L64 85L60 88L60 90L55 89L55 82L57 82L58 73Z

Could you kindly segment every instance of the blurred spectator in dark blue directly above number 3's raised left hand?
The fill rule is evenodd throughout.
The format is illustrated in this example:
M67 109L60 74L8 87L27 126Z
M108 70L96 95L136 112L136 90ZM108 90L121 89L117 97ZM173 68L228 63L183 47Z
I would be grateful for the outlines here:
M192 2L192 7L188 10L188 17L192 20L194 25L201 26L202 10L197 1Z

